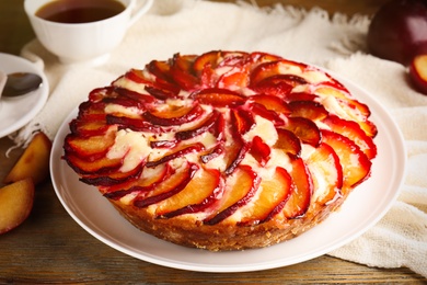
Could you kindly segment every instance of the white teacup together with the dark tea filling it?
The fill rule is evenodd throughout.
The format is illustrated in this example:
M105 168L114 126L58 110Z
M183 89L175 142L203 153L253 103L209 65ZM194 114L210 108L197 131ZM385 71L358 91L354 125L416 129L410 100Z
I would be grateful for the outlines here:
M62 64L104 62L153 0L25 0L42 45Z

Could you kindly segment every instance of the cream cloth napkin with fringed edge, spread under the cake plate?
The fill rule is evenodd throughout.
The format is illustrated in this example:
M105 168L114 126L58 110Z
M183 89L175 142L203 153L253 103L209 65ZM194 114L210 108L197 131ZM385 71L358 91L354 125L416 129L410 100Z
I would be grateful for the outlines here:
M368 25L367 16L331 18L320 9L155 1L103 66L61 66L37 41L25 46L22 55L44 65L51 93L44 110L12 137L22 144L34 129L43 129L54 138L93 88L175 53L261 50L327 67L378 95L397 121L408 149L408 174L399 201L378 225L330 254L370 266L407 266L427 277L427 96L408 86L402 66L365 54Z

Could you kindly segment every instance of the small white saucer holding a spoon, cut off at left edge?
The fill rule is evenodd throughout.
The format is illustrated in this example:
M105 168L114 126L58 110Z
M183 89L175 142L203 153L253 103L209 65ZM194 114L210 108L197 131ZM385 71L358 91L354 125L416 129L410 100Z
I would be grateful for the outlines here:
M12 72L34 72L42 77L39 89L18 98L0 98L0 138L23 127L45 105L49 86L45 75L31 61L0 53L0 69L9 75Z

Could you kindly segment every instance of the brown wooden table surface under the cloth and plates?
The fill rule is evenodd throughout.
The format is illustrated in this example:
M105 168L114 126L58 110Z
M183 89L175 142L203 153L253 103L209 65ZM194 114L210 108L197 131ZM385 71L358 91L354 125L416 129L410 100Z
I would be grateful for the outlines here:
M304 8L321 5L330 12L373 13L385 0L281 1ZM19 54L34 37L22 0L0 1L0 52ZM277 1L258 0L259 4ZM320 2L320 1L319 1ZM0 181L22 153L11 152L8 138L0 139ZM1 185L1 184L0 184ZM327 255L300 264L250 273L199 273L143 262L93 238L59 203L50 181L36 189L33 212L19 228L0 236L0 284L4 283L185 283L185 284L282 284L282 283L411 283L422 276L407 269L376 269Z

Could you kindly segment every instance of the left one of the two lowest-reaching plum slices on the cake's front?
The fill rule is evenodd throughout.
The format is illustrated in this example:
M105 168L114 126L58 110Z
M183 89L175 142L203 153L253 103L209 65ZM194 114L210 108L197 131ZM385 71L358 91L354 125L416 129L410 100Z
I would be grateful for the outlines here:
M232 184L226 183L223 197L219 201L215 213L206 218L206 225L216 225L231 216L239 208L247 204L258 190L261 179L249 166L239 166L231 180Z

